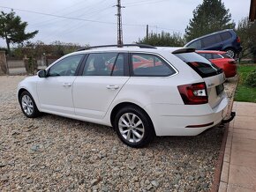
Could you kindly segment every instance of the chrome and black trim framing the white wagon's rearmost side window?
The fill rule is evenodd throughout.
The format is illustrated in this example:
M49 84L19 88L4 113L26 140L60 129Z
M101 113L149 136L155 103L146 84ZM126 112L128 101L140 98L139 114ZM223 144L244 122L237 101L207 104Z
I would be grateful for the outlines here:
M144 55L155 55L159 58L161 58L165 63L167 63L167 67L169 67L170 70L174 70L175 72L169 76L138 76L138 75L134 75L133 73L133 68L132 68L132 55L134 54L144 54ZM169 78L169 77L172 77L172 76L175 76L178 74L178 70L171 64L169 63L169 61L167 59L165 59L162 55L159 55L157 53L152 53L152 52L140 52L140 51L132 51L132 52L129 52L129 70L130 70L130 74L131 74L131 77L137 77L137 78Z

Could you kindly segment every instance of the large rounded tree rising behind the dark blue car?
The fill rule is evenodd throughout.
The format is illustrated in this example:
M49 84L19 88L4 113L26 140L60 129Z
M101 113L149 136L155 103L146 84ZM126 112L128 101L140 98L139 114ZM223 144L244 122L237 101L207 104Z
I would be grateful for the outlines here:
M228 28L235 28L231 21L230 10L225 8L222 0L203 0L193 11L193 18L185 29L186 41Z

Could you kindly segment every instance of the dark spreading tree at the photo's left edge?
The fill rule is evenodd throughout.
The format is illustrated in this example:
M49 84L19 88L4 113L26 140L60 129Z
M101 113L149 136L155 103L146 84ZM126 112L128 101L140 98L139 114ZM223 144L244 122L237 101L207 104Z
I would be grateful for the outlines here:
M0 14L0 37L6 41L8 53L10 53L10 43L22 43L23 41L34 38L38 31L25 33L27 23L22 22L14 11Z

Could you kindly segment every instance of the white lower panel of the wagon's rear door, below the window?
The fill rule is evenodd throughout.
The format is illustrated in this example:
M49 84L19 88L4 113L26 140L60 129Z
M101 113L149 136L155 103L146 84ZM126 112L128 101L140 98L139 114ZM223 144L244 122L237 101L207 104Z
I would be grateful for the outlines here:
M103 119L117 93L129 78L110 76L76 78L72 87L75 114L87 118Z

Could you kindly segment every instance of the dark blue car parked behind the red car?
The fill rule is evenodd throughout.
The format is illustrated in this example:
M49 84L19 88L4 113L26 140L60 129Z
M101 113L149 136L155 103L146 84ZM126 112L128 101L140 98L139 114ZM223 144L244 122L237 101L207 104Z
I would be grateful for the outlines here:
M184 47L198 50L221 50L227 52L232 58L236 57L242 50L240 38L233 29L209 33L188 42Z

